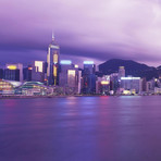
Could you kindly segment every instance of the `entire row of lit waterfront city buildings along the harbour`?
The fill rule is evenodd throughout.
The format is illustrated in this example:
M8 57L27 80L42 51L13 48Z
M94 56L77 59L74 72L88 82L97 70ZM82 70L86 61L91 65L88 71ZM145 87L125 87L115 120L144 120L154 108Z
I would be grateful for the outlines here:
M71 60L60 60L60 47L52 36L47 61L5 64L0 69L0 95L152 95L161 94L161 78L125 76L124 66L117 73L99 76L94 61L84 61L83 69Z

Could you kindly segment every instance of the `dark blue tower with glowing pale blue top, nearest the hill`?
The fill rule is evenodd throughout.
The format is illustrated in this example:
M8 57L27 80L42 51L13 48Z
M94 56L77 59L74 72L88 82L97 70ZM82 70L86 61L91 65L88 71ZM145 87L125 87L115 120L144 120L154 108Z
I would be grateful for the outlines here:
M92 61L84 61L83 94L96 94L96 65Z

